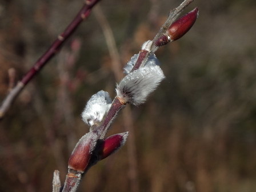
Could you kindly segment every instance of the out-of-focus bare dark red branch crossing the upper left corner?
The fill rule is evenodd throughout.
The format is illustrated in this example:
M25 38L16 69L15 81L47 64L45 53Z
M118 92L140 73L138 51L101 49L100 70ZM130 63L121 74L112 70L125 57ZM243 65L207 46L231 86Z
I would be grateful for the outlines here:
M73 21L66 27L66 29L58 35L57 39L51 44L49 49L35 62L34 66L24 75L24 77L17 83L17 85L7 94L0 106L0 119L3 118L6 111L10 108L11 103L22 91L22 89L33 79L33 77L42 69L46 63L54 57L54 55L61 49L63 43L70 37L71 34L77 29L79 24L89 17L91 9L100 0L87 0L82 9L75 16Z

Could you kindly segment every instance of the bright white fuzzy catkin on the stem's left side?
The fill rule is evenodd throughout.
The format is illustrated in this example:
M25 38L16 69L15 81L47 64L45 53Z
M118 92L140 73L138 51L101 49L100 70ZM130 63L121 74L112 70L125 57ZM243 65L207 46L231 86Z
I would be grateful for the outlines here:
M99 91L91 96L82 112L82 119L90 126L97 125L102 121L104 115L109 111L112 100L109 93Z

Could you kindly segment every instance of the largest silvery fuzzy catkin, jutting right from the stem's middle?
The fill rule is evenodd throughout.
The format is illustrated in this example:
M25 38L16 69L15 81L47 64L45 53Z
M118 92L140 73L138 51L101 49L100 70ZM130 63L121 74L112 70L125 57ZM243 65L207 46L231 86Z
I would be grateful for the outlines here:
M146 101L163 78L165 75L158 65L145 66L126 75L115 90L124 102L139 105Z

